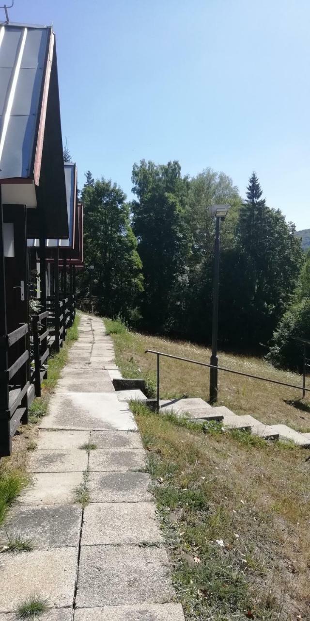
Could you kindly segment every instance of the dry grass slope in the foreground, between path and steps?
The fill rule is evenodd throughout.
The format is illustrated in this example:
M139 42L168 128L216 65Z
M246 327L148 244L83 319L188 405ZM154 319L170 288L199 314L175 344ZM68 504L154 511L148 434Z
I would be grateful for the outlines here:
M307 453L131 407L185 619L310 619Z

